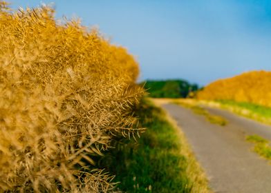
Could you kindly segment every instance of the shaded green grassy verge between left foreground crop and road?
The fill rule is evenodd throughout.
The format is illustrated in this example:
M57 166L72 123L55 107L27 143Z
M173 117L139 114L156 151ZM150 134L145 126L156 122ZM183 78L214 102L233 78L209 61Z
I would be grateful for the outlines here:
M147 128L138 142L118 146L104 165L123 192L209 192L207 180L183 134L167 114L149 100L138 108ZM111 158L111 159L109 159ZM102 161L103 162L103 161Z

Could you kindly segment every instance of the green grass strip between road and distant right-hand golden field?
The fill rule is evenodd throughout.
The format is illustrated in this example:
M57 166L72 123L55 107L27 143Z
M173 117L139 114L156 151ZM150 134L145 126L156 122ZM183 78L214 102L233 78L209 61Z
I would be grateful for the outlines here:
M264 107L261 105L256 105L247 102L236 102L236 101L200 101L200 103L205 103L207 105L216 106L218 108L223 108L225 110L230 110L241 116L245 116L249 119L254 119L271 125L271 108Z

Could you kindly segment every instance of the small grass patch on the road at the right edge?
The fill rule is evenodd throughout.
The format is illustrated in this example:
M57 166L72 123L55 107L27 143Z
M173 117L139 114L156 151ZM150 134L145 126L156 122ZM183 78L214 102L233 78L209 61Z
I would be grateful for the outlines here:
M254 143L254 152L265 159L271 160L271 147L269 141L256 134L246 137L247 141Z

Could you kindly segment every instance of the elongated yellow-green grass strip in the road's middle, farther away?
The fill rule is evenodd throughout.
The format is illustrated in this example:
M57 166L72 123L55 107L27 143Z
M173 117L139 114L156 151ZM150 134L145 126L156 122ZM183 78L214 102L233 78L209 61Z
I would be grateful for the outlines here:
M186 102L187 101L187 102ZM210 114L207 110L200 107L196 103L191 102L191 100L174 100L173 103L176 103L178 105L181 105L185 108L191 109L194 113L200 114L205 116L205 118L210 122L217 125L225 126L227 125L227 120L224 119L222 116Z

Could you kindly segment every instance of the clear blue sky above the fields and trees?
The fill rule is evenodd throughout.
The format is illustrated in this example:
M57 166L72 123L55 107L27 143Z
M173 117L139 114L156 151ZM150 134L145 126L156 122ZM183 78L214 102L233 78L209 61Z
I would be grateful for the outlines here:
M205 85L271 70L271 0L10 0L55 2L56 17L80 17L136 56L143 79Z

